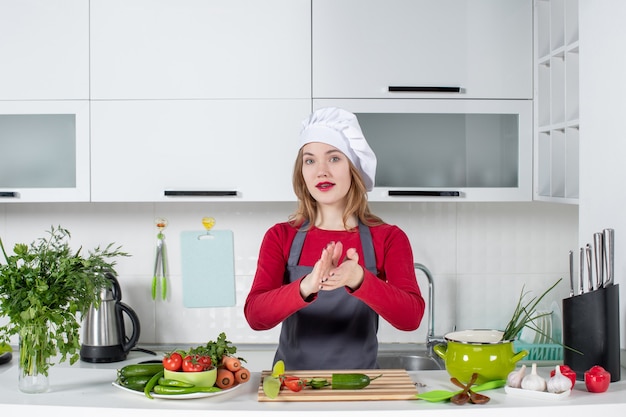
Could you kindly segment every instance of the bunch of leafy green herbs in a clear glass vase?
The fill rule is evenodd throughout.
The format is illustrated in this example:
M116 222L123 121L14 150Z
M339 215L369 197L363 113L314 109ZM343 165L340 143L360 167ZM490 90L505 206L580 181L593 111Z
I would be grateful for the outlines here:
M30 245L18 243L8 255L2 239L0 249L0 343L19 335L19 388L24 392L47 391L48 370L53 359L79 359L80 320L110 281L114 258L129 256L109 244L81 253L70 247L70 232L52 226L47 236Z

